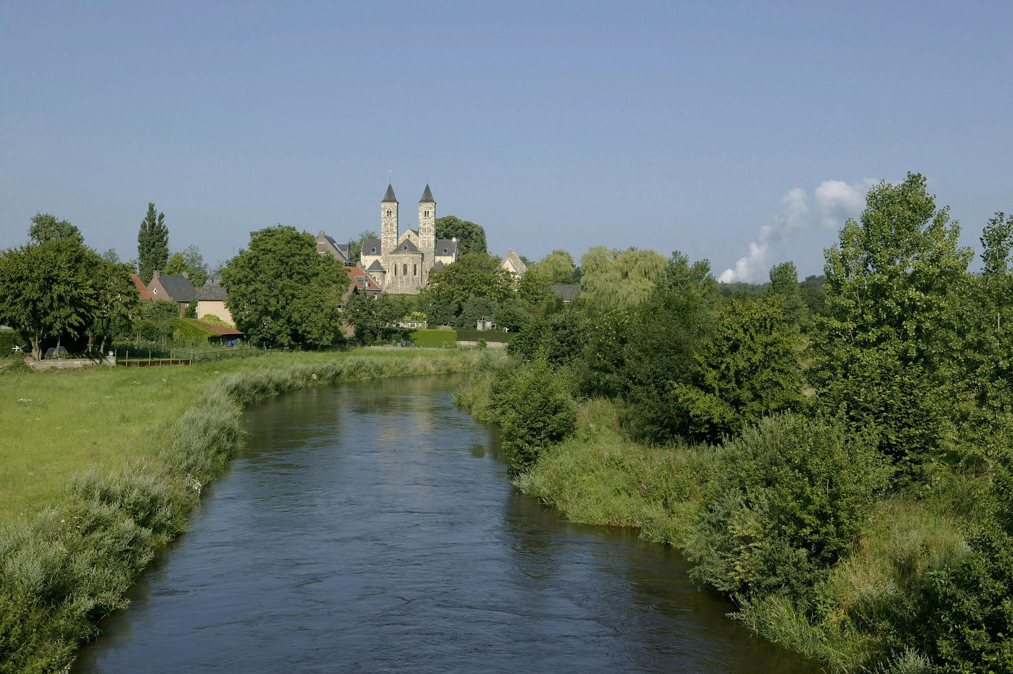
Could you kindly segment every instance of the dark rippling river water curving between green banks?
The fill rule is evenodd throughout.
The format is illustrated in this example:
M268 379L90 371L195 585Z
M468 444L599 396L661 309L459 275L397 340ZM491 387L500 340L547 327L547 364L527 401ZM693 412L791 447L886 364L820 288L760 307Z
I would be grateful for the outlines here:
M511 484L458 376L250 406L242 455L75 672L816 672L686 563Z

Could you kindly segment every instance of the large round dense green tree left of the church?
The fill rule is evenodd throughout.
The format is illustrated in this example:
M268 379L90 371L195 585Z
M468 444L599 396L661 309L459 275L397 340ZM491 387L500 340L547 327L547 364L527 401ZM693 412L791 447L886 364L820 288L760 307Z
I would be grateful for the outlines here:
M226 304L251 342L328 345L339 334L341 266L310 234L278 225L250 233L249 248L222 273Z

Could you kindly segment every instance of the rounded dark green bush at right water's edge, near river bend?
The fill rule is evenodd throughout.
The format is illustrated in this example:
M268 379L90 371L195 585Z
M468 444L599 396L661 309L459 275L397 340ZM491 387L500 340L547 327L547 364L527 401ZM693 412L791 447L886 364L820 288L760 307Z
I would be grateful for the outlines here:
M518 372L502 396L502 448L516 470L573 433L576 405L544 360Z

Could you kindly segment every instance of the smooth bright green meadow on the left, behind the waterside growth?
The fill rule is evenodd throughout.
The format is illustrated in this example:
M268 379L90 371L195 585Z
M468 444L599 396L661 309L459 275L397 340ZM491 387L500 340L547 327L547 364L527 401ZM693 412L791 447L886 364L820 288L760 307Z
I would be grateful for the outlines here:
M325 363L363 352L270 354L192 366L0 373L0 522L58 502L68 479L156 452L223 374ZM371 358L404 356L371 351ZM448 352L449 353L449 352Z

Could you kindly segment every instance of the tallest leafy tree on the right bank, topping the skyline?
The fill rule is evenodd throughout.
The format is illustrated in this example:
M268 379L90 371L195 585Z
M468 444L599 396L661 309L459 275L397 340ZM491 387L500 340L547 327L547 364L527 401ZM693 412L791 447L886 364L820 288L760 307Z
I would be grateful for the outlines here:
M953 395L954 299L971 252L936 210L925 178L881 181L861 221L848 219L825 251L827 304L810 370L825 407L911 468L938 447Z

